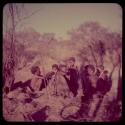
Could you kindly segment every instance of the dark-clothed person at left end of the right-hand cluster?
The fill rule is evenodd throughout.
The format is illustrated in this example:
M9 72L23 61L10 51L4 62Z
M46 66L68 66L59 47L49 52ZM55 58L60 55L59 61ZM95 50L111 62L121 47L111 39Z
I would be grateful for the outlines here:
M96 93L97 77L95 75L95 67L93 65L86 65L81 75L84 96L81 98L82 105L79 113L81 115L84 113L87 116L89 115L89 106L91 104L91 100L93 95Z

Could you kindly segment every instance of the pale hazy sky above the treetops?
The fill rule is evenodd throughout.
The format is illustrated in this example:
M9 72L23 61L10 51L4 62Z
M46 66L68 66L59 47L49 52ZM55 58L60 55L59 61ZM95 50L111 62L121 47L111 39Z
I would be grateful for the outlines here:
M122 9L114 3L24 4L27 13L40 9L23 21L40 33L55 33L68 38L67 31L87 21L97 21L112 31L122 30ZM23 28L22 27L22 28ZM21 29L21 27L20 27Z

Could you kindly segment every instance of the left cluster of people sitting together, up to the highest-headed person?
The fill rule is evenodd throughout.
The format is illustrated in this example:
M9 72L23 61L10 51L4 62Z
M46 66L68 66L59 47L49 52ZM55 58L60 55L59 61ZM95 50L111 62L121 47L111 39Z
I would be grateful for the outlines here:
M75 66L75 58L71 57L67 65L53 64L52 70L45 76L41 75L39 66L31 67L32 78L22 82L14 83L11 91L17 87L23 87L31 91L38 92L47 89L50 95L76 96L78 91L79 72Z

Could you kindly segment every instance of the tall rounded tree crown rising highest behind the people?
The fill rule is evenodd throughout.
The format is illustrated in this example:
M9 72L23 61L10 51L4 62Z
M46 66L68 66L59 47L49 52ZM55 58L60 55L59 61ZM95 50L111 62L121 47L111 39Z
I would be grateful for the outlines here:
M81 24L77 29L73 29L68 33L71 40L74 41L74 44L79 44L79 49L82 50L82 47L88 48L88 53L91 54L91 57L96 66L99 63L99 57L101 58L101 63L103 63L102 61L105 53L104 39L107 34L106 28L100 26L100 24L97 22L86 22L84 24Z

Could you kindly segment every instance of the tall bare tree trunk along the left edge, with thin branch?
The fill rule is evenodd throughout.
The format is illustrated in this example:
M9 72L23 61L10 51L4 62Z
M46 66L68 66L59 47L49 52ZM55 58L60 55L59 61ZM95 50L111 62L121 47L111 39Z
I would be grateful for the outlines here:
M15 46L16 41L16 28L18 24L24 19L29 18L32 16L35 12L30 13L29 15L25 15L24 12L24 4L15 4L15 3L9 3L4 7L3 16L4 21L3 23L3 34L8 39L8 47L9 47L9 53L8 58L6 60L3 60L3 78L4 78L4 85L7 86L8 89L11 88L11 85L14 82L14 70L15 70L15 64L17 61L17 49ZM3 40L6 42L6 40ZM3 47L3 55L6 56L6 49ZM5 59L5 58L4 58ZM5 75L6 74L6 75ZM7 75L8 74L8 75ZM6 78L7 77L7 78ZM8 84L7 84L8 83Z

